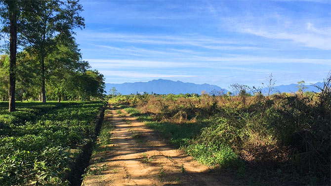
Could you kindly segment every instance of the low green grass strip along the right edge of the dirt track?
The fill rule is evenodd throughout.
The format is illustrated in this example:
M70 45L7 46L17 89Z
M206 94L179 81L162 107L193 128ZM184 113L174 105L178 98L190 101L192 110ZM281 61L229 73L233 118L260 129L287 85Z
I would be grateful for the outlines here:
M146 126L161 133L169 143L176 148L184 149L196 160L208 166L222 166L235 169L236 178L245 176L245 163L233 149L226 144L217 144L213 140L198 140L201 138L204 129L208 129L214 124L212 119L200 119L198 122L170 123L163 121L153 121L148 114L142 114L135 108L125 108L131 116L143 121ZM209 134L204 134L209 135ZM184 167L181 167L185 172Z

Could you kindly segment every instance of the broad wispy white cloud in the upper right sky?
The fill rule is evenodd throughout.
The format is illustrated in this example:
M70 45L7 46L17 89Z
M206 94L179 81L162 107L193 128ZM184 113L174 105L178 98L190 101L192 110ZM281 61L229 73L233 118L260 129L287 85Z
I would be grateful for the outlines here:
M278 13L263 17L242 15L219 19L224 27L239 33L290 40L300 46L331 50L330 21L325 23L326 27L316 27L314 23L290 19Z

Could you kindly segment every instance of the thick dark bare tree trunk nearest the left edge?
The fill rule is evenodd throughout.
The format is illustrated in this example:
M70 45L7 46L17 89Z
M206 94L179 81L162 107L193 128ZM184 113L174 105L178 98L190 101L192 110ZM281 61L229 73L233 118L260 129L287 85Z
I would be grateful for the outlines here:
M9 112L15 111L15 83L16 83L16 50L17 50L17 25L16 1L8 1L10 38L9 38Z

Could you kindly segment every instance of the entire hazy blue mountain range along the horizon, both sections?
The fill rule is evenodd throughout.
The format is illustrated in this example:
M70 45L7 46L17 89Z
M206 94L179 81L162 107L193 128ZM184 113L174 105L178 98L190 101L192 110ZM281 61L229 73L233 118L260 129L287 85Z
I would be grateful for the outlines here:
M322 87L323 83L318 82L316 83L317 86ZM276 92L295 92L298 90L296 87L297 84L289 84L289 85L279 85L275 86L272 93ZM106 83L105 90L107 93L110 93L110 89L112 87L115 87L117 89L118 93L121 93L123 95L128 94L142 94L144 92L147 92L149 94L151 93L157 93L157 94L186 94L186 93L196 93L201 94L202 91L206 91L207 93L218 93L223 92L227 93L228 90L221 88L216 85L210 85L210 84L195 84L195 83L185 83L182 81L172 81L172 80L166 80L166 79L154 79L148 82L134 82L134 83L122 83L122 84L112 84L112 83ZM314 87L313 85L307 85L306 91L315 91L318 92L319 90ZM268 92L268 88L262 89L263 93Z

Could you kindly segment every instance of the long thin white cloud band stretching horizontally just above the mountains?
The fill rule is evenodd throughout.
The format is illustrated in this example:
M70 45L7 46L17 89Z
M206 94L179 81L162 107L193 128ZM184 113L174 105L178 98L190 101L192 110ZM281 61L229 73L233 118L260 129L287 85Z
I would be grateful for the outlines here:
M88 61L93 68L210 68L210 69L236 69L241 71L261 72L256 68L234 67L234 65L252 65L252 64L315 64L327 65L331 68L331 59L286 59L286 58L258 58L258 57L202 57L188 58L185 61L146 61L146 60L108 60L108 59L84 59ZM276 71L276 70L273 70ZM284 70L283 70L284 71ZM293 70L292 70L293 71Z

